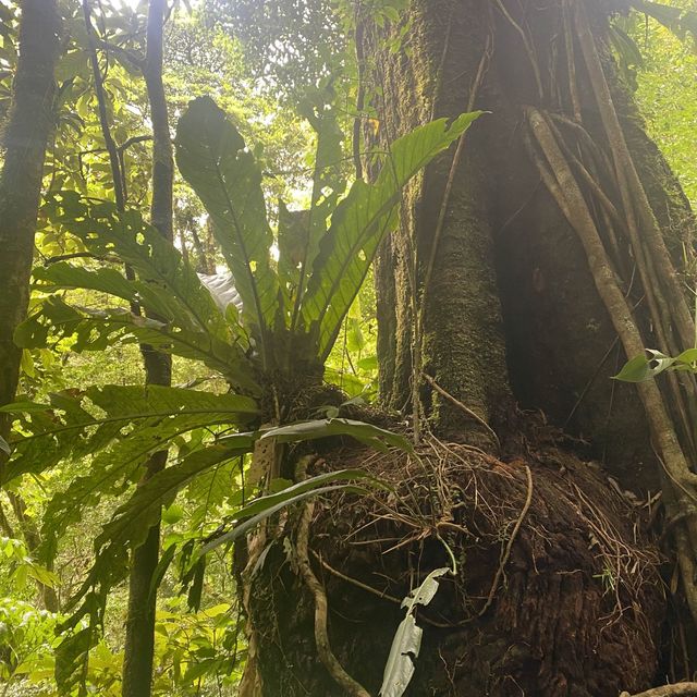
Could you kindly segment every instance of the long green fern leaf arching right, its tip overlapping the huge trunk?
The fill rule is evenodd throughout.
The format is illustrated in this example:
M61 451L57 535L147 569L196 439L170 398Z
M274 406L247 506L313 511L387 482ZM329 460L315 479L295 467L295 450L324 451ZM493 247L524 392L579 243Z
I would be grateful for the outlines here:
M320 242L302 308L305 330L315 338L322 362L381 240L396 224L402 187L461 137L480 113L464 113L450 125L447 119L439 119L402 136L392 145L376 183L354 182L337 207L329 232Z

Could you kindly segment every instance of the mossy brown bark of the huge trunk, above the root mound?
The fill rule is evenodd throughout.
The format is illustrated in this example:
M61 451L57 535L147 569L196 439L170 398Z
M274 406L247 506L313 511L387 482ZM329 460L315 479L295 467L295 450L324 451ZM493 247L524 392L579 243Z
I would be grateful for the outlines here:
M599 2L587 7L622 129L668 246L677 256L694 231L689 206L615 76L606 32L608 15L617 8ZM381 390L387 404L409 408L412 308L414 297L418 304L426 295L424 372L489 419L502 437L515 430L515 421L508 428L505 424L510 384L523 408L542 409L552 423L592 443L589 454L607 463L624 486L657 488L659 468L635 390L609 379L626 355L576 231L525 147L523 108L538 105L559 117L558 127L574 143L578 160L584 159L582 150L594 145L598 159L610 157L579 58L577 30L571 26L573 3L538 8L480 0L414 2L411 21L408 54L380 51L383 35L371 39L372 76L383 94L377 105L384 123L381 145L431 115L454 117L473 107L491 113L466 134L464 156L454 167L450 152L411 187L400 231L379 259L379 346L386 357ZM575 56L574 87L567 53ZM586 142L578 136L576 143L574 127L580 123L589 137ZM592 169L588 174L621 209L610 174ZM449 178L453 187L445 199ZM596 204L591 210L604 234L613 234L616 222L608 221ZM425 291L433 234L443 213ZM623 292L637 306L645 345L671 351L651 330L648 301L624 247L617 272ZM461 438L463 427L472 430L472 423L463 423L462 414L427 387L421 387L421 399L439 432Z

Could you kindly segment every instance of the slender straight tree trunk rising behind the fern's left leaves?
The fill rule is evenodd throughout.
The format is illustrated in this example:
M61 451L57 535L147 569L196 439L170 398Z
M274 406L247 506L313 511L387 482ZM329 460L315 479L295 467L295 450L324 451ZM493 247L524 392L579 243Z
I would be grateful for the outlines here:
M162 84L162 30L168 10L166 0L150 0L147 28L147 54L144 77L152 120L152 204L150 220L160 234L173 242L174 161ZM169 386L172 381L171 356L142 346L148 384ZM167 451L150 458L144 481L167 464ZM152 578L160 550L160 526L150 528L147 539L133 551L129 579L129 615L123 661L123 697L150 697L155 650L157 594Z

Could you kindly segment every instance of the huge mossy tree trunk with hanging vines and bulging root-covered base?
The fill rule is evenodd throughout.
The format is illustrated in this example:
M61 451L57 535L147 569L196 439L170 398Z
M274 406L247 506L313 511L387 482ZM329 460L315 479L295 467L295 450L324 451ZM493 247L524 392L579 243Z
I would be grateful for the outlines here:
M298 534L286 525L298 568L271 547L249 606L264 695L377 694L403 616L392 600L448 565L443 541L457 574L421 615L406 695L648 687L664 614L658 554L635 537L636 511L608 474L636 491L662 487L697 617L694 381L610 380L643 346L675 354L694 337L671 260L692 254L694 221L616 77L608 26L619 5L413 0L402 50L383 41L399 26L363 33L382 149L433 117L490 113L408 187L376 272L382 394L428 426L420 460L368 462L396 503L315 514L308 559L323 619L303 572L307 516ZM604 468L582 463L591 456ZM318 660L322 624L362 688L346 692Z

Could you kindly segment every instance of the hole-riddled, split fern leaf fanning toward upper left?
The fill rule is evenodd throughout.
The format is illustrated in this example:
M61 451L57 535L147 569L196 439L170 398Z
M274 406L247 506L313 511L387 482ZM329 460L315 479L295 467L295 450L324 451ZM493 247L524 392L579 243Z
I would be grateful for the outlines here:
M118 257L137 279L126 279L114 268L88 269L59 262L35 270L38 290L96 290L121 298L124 305L137 303L149 317L134 315L127 307L74 308L62 298L49 297L15 332L20 345L44 346L51 333L75 334L75 351L100 351L115 341L137 340L200 359L224 375L234 388L258 392L245 355L249 348L247 335L234 321L228 321L179 250L137 211L119 213L109 201L65 191L52 194L45 211L56 227L80 239L96 257Z

